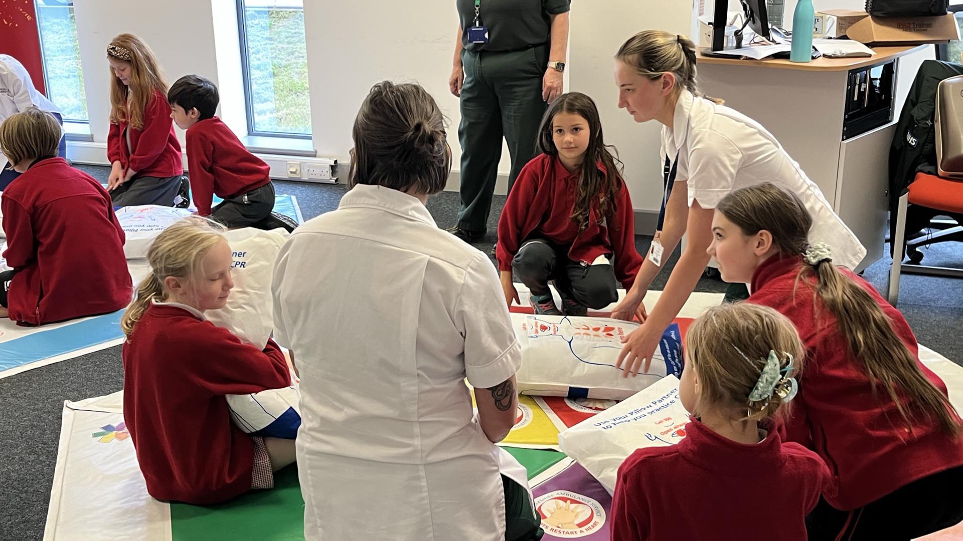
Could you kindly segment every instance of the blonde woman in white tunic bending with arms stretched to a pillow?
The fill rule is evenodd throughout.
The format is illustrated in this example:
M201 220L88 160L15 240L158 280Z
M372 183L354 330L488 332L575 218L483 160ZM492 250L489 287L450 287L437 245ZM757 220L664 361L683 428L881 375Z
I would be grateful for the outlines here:
M613 317L638 315L619 354L625 375L648 370L665 327L679 314L709 263L713 212L728 193L772 182L795 193L813 216L810 241L832 248L834 263L855 270L866 249L833 212L832 205L766 128L695 85L695 45L662 30L638 33L615 55L618 106L637 122L663 124L663 201L655 239L632 290ZM814 134L818 136L818 134ZM663 295L647 314L642 300L683 234L687 243Z

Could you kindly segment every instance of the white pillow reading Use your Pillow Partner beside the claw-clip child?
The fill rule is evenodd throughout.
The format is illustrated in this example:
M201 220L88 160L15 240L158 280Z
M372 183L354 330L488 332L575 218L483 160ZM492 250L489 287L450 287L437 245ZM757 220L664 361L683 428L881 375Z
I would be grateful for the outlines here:
M610 493L618 467L640 448L667 447L686 437L689 413L679 399L679 379L660 381L559 433L559 448Z

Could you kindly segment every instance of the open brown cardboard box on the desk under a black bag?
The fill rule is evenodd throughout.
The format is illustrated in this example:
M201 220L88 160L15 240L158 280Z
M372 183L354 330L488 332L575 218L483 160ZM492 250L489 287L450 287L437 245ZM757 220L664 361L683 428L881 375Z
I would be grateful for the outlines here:
M953 13L935 17L871 17L852 10L824 10L836 18L836 35L873 45L912 45L960 39Z

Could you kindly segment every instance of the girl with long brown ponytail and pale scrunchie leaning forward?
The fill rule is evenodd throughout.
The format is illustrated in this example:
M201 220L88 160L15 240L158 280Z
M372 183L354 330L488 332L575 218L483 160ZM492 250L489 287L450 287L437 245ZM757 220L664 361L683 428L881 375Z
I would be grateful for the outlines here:
M749 302L799 329L808 363L799 407L782 429L820 454L837 494L807 520L810 539L908 540L963 519L963 441L947 387L918 355L899 311L810 246L813 223L793 193L763 184L716 206L722 279L750 282Z

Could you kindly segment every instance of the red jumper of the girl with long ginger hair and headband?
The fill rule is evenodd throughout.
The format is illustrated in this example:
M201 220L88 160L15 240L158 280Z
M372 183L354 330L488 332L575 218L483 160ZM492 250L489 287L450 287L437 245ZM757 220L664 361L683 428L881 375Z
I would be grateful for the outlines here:
M174 134L173 122L168 96L154 90L143 112L143 128L134 128L126 120L111 122L107 134L107 158L111 164L120 162L124 170L134 169L139 177L169 178L183 173L180 142ZM130 148L124 130L130 130Z

